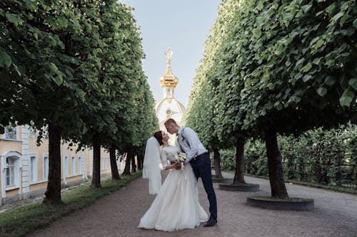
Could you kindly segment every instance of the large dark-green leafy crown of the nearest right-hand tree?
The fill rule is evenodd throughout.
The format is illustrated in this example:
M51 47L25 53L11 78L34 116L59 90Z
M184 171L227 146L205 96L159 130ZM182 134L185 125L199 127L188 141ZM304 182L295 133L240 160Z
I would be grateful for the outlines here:
M356 11L354 1L242 1L218 55L228 125L298 134L351 118Z

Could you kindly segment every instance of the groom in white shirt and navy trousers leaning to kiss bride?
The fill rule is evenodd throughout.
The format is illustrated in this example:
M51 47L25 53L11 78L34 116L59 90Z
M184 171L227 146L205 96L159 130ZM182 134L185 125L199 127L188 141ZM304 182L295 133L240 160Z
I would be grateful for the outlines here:
M181 150L186 153L185 163L190 162L196 179L198 180L199 177L202 179L204 189L208 196L209 212L211 213L204 227L214 226L217 223L217 201L213 189L211 159L209 159L209 154L198 139L196 132L190 127L180 127L173 119L166 120L164 125L168 132L178 135L178 144Z

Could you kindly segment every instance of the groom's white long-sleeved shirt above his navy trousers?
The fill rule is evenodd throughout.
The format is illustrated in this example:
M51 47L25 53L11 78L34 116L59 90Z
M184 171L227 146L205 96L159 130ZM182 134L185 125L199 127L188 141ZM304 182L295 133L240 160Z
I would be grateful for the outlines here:
M207 149L203 147L200 139L196 135L196 132L191 127L180 127L177 132L178 144L183 152L186 153L186 161L188 163L194 157L207 152Z

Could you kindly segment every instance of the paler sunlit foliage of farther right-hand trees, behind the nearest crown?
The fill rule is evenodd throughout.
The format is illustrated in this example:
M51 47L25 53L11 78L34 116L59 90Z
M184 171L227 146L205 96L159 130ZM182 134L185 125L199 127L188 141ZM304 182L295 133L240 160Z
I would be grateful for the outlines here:
M222 39L228 31L228 23L232 21L237 6L237 1L228 0L222 1L218 7L218 18L211 28L211 36L206 41L202 63L196 70L188 108L183 118L186 126L196 130L203 144L209 149L229 147L234 140L231 137L218 139L216 87L220 78L216 76L214 63L216 63L216 52L223 43Z

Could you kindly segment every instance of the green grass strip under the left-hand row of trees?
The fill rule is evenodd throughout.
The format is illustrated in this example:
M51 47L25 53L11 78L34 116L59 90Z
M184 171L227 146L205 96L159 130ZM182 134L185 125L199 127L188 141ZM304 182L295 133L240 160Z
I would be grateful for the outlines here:
M111 178L102 179L100 189L92 189L90 184L79 186L61 194L64 204L49 205L38 201L4 211L0 214L0 236L25 236L39 228L49 226L74 211L91 206L96 200L121 189L139 177L141 172L130 176L122 175L121 180L118 181L113 181Z

